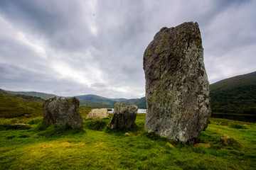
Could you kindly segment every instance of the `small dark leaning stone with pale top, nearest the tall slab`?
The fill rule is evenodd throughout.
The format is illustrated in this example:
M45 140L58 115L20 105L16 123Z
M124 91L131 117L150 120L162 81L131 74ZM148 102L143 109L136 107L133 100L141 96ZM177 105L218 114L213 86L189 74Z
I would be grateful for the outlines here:
M107 128L131 128L137 117L138 106L127 103L114 103L113 118Z

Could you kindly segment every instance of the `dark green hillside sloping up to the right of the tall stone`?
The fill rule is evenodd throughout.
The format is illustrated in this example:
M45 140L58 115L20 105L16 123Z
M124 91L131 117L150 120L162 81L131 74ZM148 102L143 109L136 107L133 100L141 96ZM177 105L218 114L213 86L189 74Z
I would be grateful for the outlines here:
M256 114L256 72L210 85L213 113Z

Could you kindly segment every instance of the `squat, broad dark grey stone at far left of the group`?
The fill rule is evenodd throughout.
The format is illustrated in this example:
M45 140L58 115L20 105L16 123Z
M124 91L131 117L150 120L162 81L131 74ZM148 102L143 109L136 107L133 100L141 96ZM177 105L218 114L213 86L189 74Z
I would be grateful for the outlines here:
M78 111L78 98L49 98L43 103L43 121L46 125L69 125L72 128L82 128L82 117Z

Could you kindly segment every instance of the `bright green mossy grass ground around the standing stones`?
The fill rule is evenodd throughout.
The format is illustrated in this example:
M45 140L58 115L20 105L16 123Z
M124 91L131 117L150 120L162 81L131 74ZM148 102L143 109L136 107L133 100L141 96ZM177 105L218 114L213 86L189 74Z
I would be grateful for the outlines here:
M43 118L27 118L29 129L1 129L0 169L256 169L255 123L211 118L201 132L209 149L171 142L173 148L144 132L144 114L128 130L106 130L110 119L86 120L87 110L81 110L82 130L46 126ZM223 145L223 135L237 143Z

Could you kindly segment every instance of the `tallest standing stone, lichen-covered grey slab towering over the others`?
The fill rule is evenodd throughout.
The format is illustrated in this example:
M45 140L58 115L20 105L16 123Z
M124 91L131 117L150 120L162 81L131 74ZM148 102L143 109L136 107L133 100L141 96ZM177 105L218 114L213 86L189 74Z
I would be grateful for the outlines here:
M145 130L193 142L210 117L209 82L198 23L161 28L144 52Z

